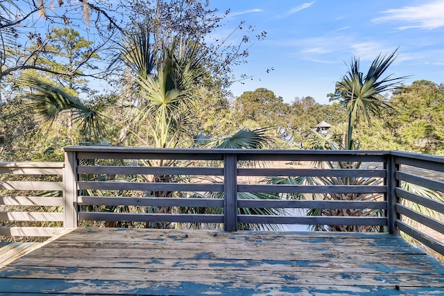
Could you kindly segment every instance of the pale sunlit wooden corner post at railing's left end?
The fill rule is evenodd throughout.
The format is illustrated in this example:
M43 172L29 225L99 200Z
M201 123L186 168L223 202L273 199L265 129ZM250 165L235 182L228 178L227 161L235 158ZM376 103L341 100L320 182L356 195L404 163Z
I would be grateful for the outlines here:
M65 168L63 182L65 183L64 220L63 227L77 227L77 157L75 151L65 151Z

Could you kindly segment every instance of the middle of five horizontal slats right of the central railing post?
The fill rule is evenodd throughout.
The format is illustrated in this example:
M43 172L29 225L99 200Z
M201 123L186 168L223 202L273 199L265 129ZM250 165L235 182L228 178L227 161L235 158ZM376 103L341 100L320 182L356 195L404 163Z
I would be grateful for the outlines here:
M238 192L276 193L385 193L386 186L368 185L274 185L239 184Z

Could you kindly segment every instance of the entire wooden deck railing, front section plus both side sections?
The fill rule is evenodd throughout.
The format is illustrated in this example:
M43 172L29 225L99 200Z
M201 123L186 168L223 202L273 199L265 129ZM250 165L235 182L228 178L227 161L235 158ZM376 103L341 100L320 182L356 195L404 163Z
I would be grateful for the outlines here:
M0 207L8 207L0 221L53 223L6 225L0 235L44 236L78 225L131 223L130 227L182 223L181 227L226 231L255 225L318 225L330 230L348 225L343 229L402 231L444 254L438 238L444 224L432 215L444 214L444 203L411 186L443 193L439 174L444 173L444 157L359 150L64 149L65 164L0 166L2 174L44 175L32 182L0 183L0 189L15 194L0 198ZM438 177L424 175L430 172ZM46 180L51 177L51 182ZM22 196L24 191L32 196ZM56 191L56 196L43 196L48 191ZM50 207L25 211L24 206ZM411 220L423 227L413 227ZM438 236L425 234L429 229Z

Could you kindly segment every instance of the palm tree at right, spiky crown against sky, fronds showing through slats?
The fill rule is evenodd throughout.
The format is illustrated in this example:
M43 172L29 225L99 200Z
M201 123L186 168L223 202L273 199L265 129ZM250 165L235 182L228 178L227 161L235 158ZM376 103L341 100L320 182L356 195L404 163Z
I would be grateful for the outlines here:
M404 77L392 78L392 75L384 76L388 67L396 58L396 51L390 55L379 54L373 60L370 69L366 76L359 70L359 59L353 58L348 73L343 76L341 82L337 86L340 91L340 101L348 111L348 130L345 138L345 145L341 145L341 139L337 139L333 134L323 136L314 130L310 130L309 137L306 139L305 147L316 150L359 150L359 143L352 139L352 132L361 118L366 118L370 121L370 116L382 116L382 111L389 109L393 110L390 103L384 101L383 93L391 89L398 88L400 82ZM316 166L327 166L328 168L362 168L361 162L321 162ZM382 183L381 179L375 177L273 177L266 179L270 184L309 184L309 185L378 185ZM436 191L425 189L414 184L402 182L402 188L424 195L428 198L444 201L444 197ZM383 198L380 194L356 194L356 193L341 193L341 194L302 194L302 195L288 195L287 198L306 198L306 199L320 199L320 200L378 200ZM404 202L408 202L405 201ZM409 202L410 203L410 202ZM443 215L436 211L420 206L419 204L409 204L417 211L427 213L429 216L441 217ZM325 209L311 209L307 212L312 216L381 216L383 213L379 210L325 210ZM314 225L317 230L330 231L379 231L379 227L353 227L341 225Z

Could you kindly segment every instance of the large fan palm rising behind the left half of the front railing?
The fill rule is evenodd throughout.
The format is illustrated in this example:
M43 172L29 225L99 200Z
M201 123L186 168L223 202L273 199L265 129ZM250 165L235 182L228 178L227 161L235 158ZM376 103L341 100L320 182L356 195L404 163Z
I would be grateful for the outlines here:
M142 34L143 35L143 34ZM149 125L148 131L157 147L173 147L177 137L184 134L182 123L194 104L193 94L203 75L203 64L196 44L185 42L179 44L173 40L171 44L162 44L158 55L139 49L145 46L148 37L142 44L130 43L130 48L123 51L122 57L135 70L139 98L136 105L130 105L130 125L139 130ZM183 46L183 47L181 47ZM148 75L143 63L155 63L155 71Z

